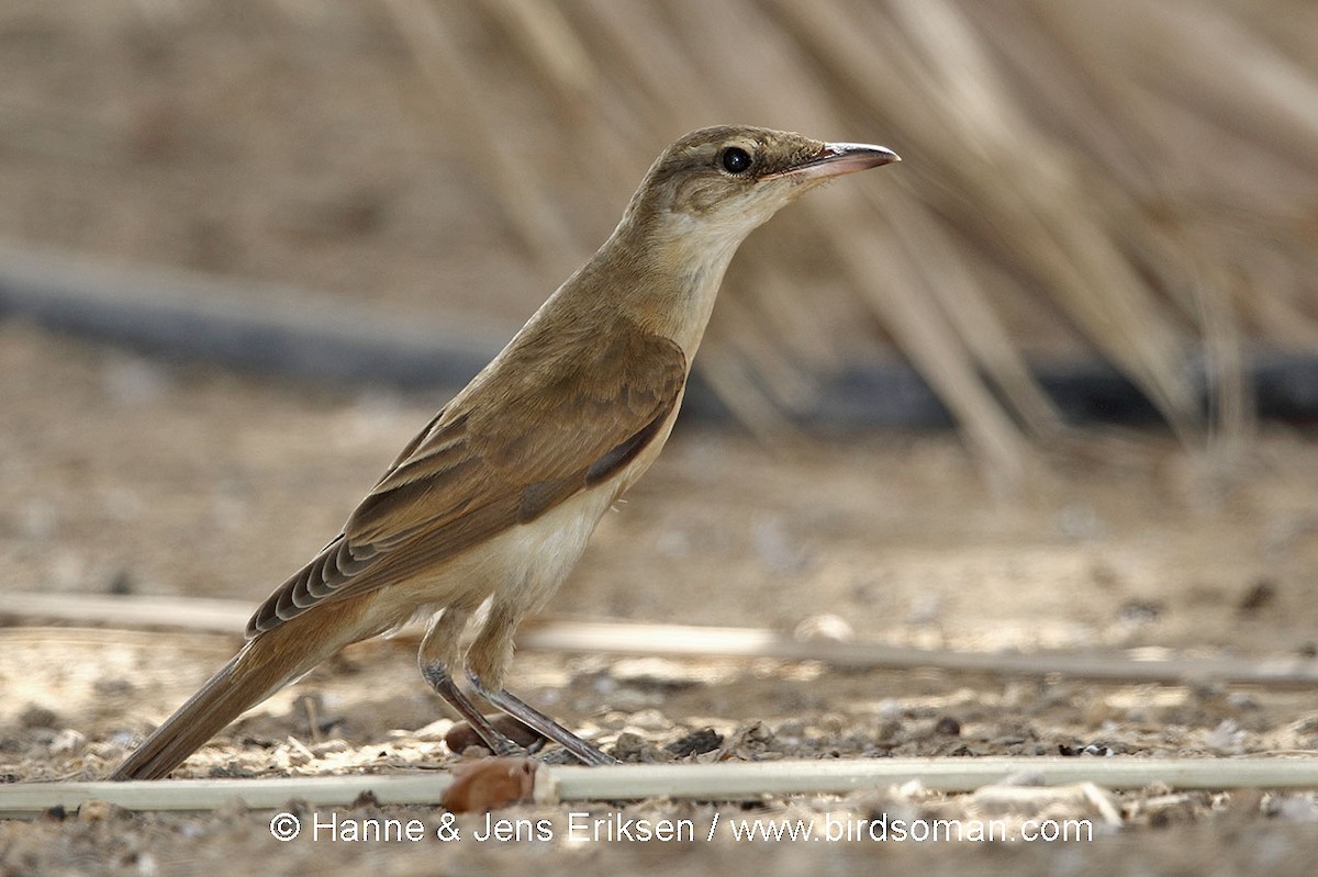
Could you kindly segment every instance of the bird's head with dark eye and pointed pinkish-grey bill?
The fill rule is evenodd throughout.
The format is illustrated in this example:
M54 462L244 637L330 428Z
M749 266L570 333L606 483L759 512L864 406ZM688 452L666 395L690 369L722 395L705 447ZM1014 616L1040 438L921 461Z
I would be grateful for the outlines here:
M652 230L735 246L803 192L842 174L900 161L883 146L721 125L677 140L650 167L629 213Z

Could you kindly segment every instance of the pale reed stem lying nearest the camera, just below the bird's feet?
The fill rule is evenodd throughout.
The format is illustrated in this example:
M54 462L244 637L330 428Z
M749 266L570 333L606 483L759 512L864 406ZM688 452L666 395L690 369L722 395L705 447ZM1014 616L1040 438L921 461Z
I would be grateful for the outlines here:
M136 782L17 782L0 786L0 819L32 819L92 802L127 810L216 810L236 801L253 810L283 810L291 801L310 807L349 807L364 797L380 806L440 802L447 772L265 777L258 780L152 780ZM758 801L764 795L840 795L902 789L1010 794L1028 789L1314 789L1318 760L1248 758L1062 758L931 757L821 761L720 761L712 764L622 764L602 768L535 766L539 806L572 801ZM992 790L992 791L988 791ZM1115 812L1115 810L1112 811ZM310 818L310 814L308 816ZM272 831L274 826L272 824Z

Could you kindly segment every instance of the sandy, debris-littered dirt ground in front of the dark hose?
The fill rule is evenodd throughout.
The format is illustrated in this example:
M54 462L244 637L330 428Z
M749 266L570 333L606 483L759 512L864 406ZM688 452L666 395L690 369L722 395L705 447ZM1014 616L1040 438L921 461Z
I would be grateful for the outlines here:
M0 328L0 590L262 598L341 523L442 399L335 392L166 365ZM685 429L601 527L555 614L782 631L837 629L967 651L1293 657L1315 651L1313 436L1269 428L1230 458L1155 435L1111 440L1108 462L1056 458L1016 491L991 487L954 436L874 436L766 448ZM3 604L0 604L3 608ZM828 618L832 616L832 618ZM235 637L169 631L0 629L0 773L95 778L221 664ZM695 731L721 756L1294 753L1318 748L1309 691L1130 686L1064 678L838 670L770 660L525 653L527 699L605 748L645 757ZM310 699L310 706L308 706ZM312 727L314 716L314 727ZM443 707L411 644L351 649L270 699L177 776L398 772L455 761ZM713 745L713 744L706 744ZM633 737L623 747L637 751ZM717 757L721 757L717 756ZM695 756L716 757L716 756ZM1091 757L1091 756L1082 756ZM277 843L269 812L111 812L0 824L3 873L544 873L894 866L1012 873L1302 873L1318 853L1311 794L1041 793L1025 816L1093 818L1093 841L573 844ZM975 795L598 805L593 812L994 812ZM1016 805L1014 805L1016 807ZM567 819L567 807L501 811ZM439 824L439 811L389 814ZM1024 818L1014 811L1015 816ZM341 815L380 815L369 805ZM565 824L565 823L563 823Z

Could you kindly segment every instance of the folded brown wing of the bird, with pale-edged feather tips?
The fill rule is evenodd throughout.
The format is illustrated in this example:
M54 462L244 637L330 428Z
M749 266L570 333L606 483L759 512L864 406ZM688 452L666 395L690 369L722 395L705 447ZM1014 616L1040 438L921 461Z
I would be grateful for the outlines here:
M409 445L339 535L248 623L403 581L535 520L635 458L672 413L681 349L631 324L510 348Z

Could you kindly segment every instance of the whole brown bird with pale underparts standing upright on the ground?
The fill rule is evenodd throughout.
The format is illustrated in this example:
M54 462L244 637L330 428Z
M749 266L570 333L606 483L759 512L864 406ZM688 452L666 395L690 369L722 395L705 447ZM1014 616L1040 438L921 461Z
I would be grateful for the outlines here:
M463 677L583 764L613 762L507 690L514 632L667 441L746 236L820 183L898 161L883 146L745 125L664 149L596 254L403 448L343 531L261 603L240 651L111 778L169 776L345 645L418 616L428 619L422 677L492 753L525 751Z

